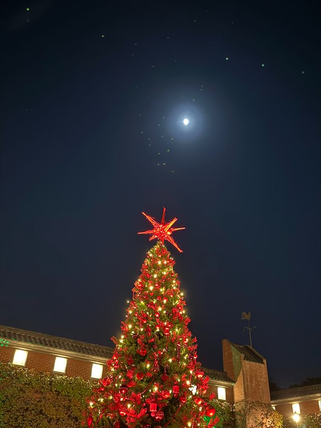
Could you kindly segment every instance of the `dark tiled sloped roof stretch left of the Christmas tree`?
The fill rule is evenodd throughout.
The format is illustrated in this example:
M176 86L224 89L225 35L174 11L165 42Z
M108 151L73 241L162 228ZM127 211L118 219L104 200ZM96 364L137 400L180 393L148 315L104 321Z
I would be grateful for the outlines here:
M78 352L80 354L93 355L104 358L111 358L114 353L114 349L108 346L74 341L72 339L49 336L42 333L36 333L2 325L0 326L0 337L7 340L32 343L40 346L48 346L51 348L63 349L65 351Z

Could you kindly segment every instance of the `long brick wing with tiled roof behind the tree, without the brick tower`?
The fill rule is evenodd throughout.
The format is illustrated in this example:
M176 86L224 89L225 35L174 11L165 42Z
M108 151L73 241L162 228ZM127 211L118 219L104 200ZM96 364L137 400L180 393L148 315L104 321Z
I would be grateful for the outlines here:
M0 326L0 338L9 341L0 347L0 361L41 372L100 379L106 373L106 360L114 349L108 346L49 336L13 327ZM209 376L209 390L233 403L234 382L225 372L203 368Z

